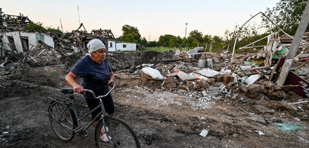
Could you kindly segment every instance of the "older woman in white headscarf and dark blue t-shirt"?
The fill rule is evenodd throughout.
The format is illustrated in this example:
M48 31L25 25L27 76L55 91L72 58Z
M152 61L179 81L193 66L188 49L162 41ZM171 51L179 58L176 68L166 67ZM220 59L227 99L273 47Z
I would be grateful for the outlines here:
M111 70L111 66L108 64L106 58L106 48L104 43L99 39L92 39L87 44L89 54L83 56L72 68L71 72L65 76L65 80L71 87L73 87L74 92L84 94L84 98L88 104L90 110L94 109L100 104L98 99L94 99L91 94L84 92L84 89L91 89L95 96L104 95L109 91L106 85L113 85L114 73ZM82 77L82 85L78 85L75 79L80 76ZM104 103L105 111L108 114L113 114L114 103L111 94L102 98ZM92 119L100 114L101 110L97 109L95 112L91 113ZM98 120L96 120L93 125L96 126ZM106 134L104 134L104 129L101 129L101 139L107 142L108 139Z

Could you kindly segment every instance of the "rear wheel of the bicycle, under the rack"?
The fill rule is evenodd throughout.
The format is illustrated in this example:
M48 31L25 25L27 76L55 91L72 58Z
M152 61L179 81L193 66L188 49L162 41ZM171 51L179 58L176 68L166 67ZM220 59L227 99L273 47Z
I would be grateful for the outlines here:
M65 142L72 140L75 136L73 129L78 127L78 124L71 107L67 107L64 101L52 101L48 111L49 122L58 138ZM63 111L65 112L62 114ZM59 118L60 121L58 122Z

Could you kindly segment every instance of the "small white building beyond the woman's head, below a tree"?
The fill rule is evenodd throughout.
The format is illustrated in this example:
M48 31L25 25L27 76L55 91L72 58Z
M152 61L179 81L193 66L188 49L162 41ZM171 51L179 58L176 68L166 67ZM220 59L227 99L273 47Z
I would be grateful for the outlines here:
M136 43L108 41L108 52L120 51L136 51Z

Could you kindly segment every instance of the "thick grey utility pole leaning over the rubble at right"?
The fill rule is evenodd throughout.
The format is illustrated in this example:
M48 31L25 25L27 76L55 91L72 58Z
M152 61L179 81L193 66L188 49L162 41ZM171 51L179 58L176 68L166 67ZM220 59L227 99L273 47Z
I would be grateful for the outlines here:
M299 44L303 39L308 23L309 23L309 2L307 3L307 6L304 10L303 17L301 17L301 21L299 22L292 45L290 46L290 50L288 51L288 55L286 56L286 61L284 61L284 65L282 66L282 70L277 80L277 86L283 86L284 83L286 82L286 77L288 76L288 72L290 72L290 66L294 61L294 57L299 48Z

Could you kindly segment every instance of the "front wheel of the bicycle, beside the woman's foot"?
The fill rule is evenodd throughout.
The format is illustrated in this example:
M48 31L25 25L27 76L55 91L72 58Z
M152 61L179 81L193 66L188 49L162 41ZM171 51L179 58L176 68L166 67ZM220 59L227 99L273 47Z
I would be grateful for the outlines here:
M105 125L108 127L107 135L111 137L111 142L103 142L100 139L102 120L95 128L95 145L98 147L141 147L135 131L123 120L109 117L105 119Z

